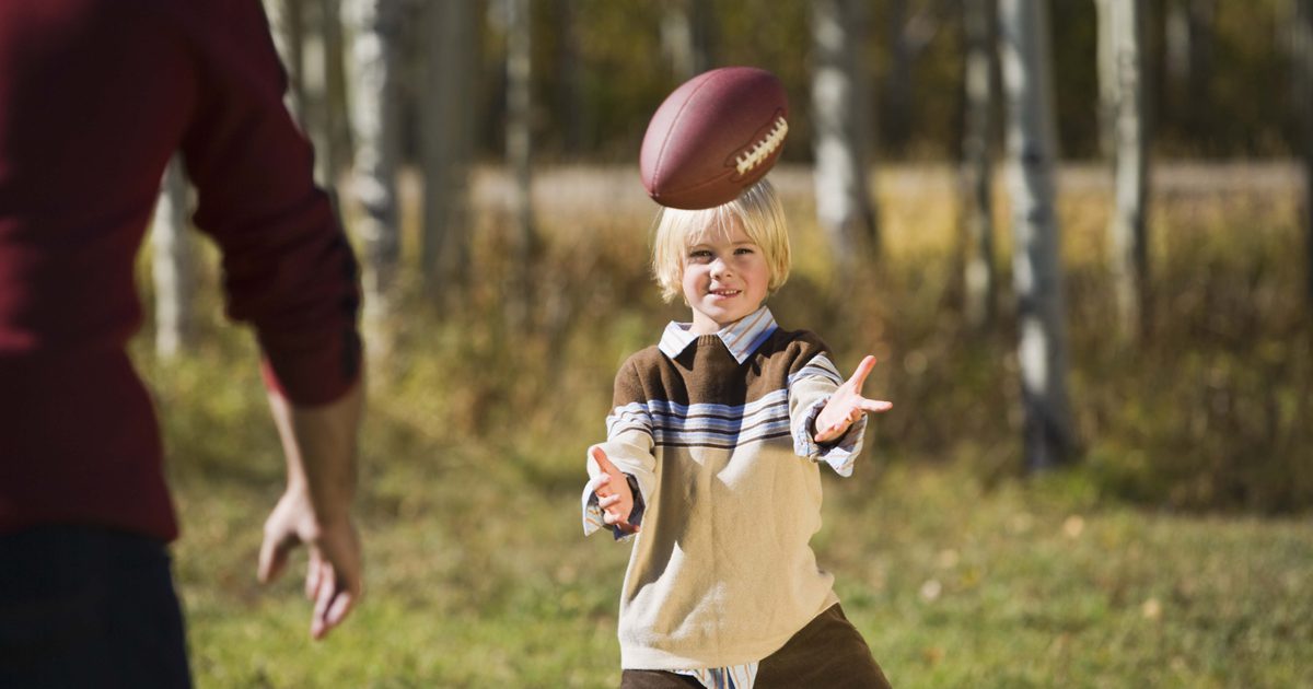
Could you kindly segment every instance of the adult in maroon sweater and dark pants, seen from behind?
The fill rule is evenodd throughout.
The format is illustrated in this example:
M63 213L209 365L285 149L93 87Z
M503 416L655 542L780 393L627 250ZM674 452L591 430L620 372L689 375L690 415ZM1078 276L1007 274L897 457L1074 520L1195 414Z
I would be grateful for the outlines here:
M288 457L260 577L309 545L316 638L358 597L356 262L284 88L259 0L0 1L0 686L188 681L177 526L125 353L176 150Z

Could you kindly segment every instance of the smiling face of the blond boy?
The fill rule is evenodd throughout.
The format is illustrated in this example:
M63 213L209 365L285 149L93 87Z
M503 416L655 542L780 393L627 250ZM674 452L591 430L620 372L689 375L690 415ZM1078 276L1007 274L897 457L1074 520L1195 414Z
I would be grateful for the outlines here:
M756 311L771 285L762 247L735 220L729 232L709 231L684 251L684 299L693 307L695 335L710 335Z

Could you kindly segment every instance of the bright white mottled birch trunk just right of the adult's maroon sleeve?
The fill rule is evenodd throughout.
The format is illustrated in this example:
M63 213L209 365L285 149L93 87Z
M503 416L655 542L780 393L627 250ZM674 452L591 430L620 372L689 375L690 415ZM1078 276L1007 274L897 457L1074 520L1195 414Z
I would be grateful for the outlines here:
M351 122L356 130L352 190L364 211L356 227L365 255L365 320L377 325L391 311L391 291L400 264L397 211L400 4L398 0L353 0L348 17L352 25Z

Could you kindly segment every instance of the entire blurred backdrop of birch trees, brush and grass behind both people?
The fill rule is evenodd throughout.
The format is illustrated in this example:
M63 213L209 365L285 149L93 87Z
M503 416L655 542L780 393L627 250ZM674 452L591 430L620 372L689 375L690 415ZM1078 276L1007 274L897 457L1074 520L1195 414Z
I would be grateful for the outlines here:
M579 535L647 273L647 118L771 70L771 306L893 411L814 545L899 686L1313 682L1313 1L265 0L364 268L368 595L253 583L281 486L251 337L165 178L135 343L201 686L613 686Z

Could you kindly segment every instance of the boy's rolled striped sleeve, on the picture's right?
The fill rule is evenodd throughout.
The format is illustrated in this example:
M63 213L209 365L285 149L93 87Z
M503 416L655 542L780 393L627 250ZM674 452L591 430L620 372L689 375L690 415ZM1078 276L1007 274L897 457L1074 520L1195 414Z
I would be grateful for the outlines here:
M789 374L789 423L793 451L814 462L825 462L840 476L852 475L852 465L861 453L867 417L863 416L836 440L819 444L815 438L815 420L830 402L830 395L843 385L839 369L823 352L813 354Z

